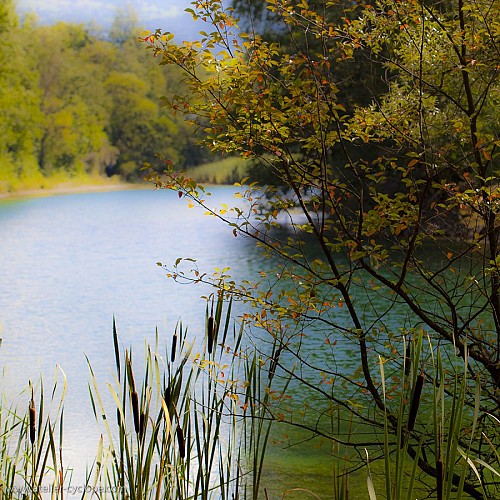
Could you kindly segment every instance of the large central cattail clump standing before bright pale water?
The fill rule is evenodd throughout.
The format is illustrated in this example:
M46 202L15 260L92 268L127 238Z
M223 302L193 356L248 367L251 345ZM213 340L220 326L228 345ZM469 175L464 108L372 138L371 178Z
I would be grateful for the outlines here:
M261 424L247 426L241 418L247 408L258 410L241 404L239 393L245 387L254 399L248 388L257 387L259 371L242 350L243 327L231 324L230 312L231 302L224 310L221 296L212 298L202 352L178 323L164 350L158 335L153 348L145 346L140 368L129 350L120 350L114 325L115 377L107 387L114 408L104 403L89 363L92 406L104 436L89 476L92 489L116 499L257 498L249 492L258 490L260 471L242 444L255 452L267 436Z

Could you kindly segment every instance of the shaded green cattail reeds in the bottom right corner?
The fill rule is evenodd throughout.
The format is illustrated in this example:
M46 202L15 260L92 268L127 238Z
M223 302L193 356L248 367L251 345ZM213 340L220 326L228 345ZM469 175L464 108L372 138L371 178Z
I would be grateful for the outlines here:
M424 359L425 344L428 356ZM434 443L433 457L427 456L426 462L430 460L435 464L434 473L428 476L434 477L435 498L470 498L464 488L465 479L470 475L477 477L484 498L493 498L485 484L495 480L495 476L497 481L500 478L500 460L492 441L489 441L491 450L488 454L496 456L496 465L485 463L479 456L484 453L485 447L477 445L488 437L481 436L478 422L480 418L489 418L490 415L481 415L480 380L470 366L467 350L463 357L452 357L445 367L441 350L434 348L432 341L420 334L408 343L406 352L408 355L404 360L395 405L391 405L386 390L386 360L380 358L385 402L383 498L411 500L417 497L422 442L429 439ZM472 407L465 400L470 388L475 395ZM367 467L369 496L370 500L375 500L377 494L369 459ZM480 468L482 472L479 472Z

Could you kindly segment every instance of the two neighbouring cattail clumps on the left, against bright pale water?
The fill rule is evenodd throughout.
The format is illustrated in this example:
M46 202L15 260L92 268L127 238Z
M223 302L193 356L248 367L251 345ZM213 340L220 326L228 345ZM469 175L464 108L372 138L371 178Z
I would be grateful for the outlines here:
M207 298L204 339L179 322L168 345L156 331L143 359L122 350L113 320L116 372L102 390L90 360L90 404L100 437L86 483L63 462L63 387L50 406L43 383L23 393L26 412L0 406L0 494L63 499L66 492L116 499L258 498L272 422L258 353L243 342L231 301ZM240 413L251 418L241 419ZM250 453L251 451L251 453ZM81 464L80 464L81 465Z

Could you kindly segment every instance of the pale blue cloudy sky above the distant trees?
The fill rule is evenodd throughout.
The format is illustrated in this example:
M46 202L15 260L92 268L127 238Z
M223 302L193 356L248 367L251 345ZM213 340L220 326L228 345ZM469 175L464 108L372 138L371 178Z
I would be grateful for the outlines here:
M146 30L170 31L177 37L192 38L198 28L184 12L192 0L17 0L17 12L22 17L32 12L42 24L57 21L93 24L106 29L118 9L131 8Z

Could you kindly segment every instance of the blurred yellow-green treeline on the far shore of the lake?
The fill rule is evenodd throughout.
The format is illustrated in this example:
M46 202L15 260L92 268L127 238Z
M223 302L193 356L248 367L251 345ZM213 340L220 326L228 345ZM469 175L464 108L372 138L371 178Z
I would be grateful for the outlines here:
M14 2L1 3L0 192L99 176L134 181L157 153L183 167L203 162L192 129L161 106L179 75L147 55L139 32L127 15L105 35L21 23Z

